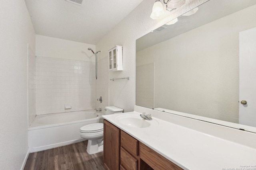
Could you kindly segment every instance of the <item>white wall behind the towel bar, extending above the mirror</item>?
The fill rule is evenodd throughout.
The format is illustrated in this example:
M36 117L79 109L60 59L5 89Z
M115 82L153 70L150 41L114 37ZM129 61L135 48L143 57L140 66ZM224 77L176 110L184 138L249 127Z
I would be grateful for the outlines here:
M99 72L108 75L108 85L104 87L104 92L109 91L109 105L123 108L125 112L133 111L135 105L135 65L136 65L136 39L142 37L151 30L172 20L188 10L198 6L206 0L187 0L186 5L172 12L163 20L154 21L150 18L152 6L155 0L144 0L137 6L124 20L122 20L110 33L102 38L97 44L96 49L101 50L100 59L108 57L108 50L116 45L123 46L123 71L109 72L106 67L99 68ZM110 81L110 78L130 77L130 80ZM99 78L96 84L104 83L105 79ZM99 95L96 90L97 98ZM105 107L104 105L98 105Z

